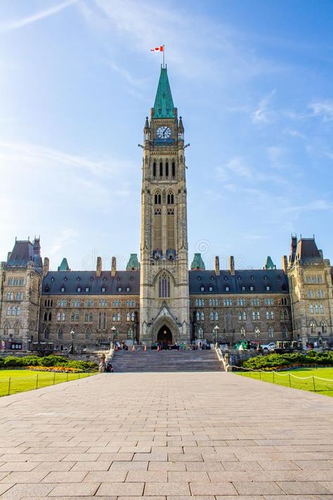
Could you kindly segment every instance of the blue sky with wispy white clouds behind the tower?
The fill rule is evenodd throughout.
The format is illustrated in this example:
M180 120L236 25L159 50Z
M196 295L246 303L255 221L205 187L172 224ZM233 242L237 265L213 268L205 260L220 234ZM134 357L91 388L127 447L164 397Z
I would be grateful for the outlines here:
M141 154L166 46L185 139L190 257L333 259L333 2L2 0L0 259L140 253Z

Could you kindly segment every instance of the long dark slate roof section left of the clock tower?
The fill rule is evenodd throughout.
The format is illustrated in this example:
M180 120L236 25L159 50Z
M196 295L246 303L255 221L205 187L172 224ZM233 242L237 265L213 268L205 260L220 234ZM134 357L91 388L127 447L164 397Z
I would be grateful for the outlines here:
M65 292L61 288L65 287ZM102 288L105 287L105 292ZM81 292L77 291L81 288ZM89 288L89 292L85 291ZM119 292L118 288L122 288ZM126 292L129 288L129 292ZM110 271L48 271L44 276L41 295L138 295L140 293L140 271L117 271L111 276Z

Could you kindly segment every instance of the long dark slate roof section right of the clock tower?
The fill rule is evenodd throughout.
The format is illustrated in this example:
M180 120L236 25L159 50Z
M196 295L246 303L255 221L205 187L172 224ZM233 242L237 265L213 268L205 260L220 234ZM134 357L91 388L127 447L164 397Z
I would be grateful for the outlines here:
M189 271L189 281L190 294L289 292L288 279L282 269L247 269L235 271L235 276L232 276L230 271L223 270L220 271L220 276L216 276L215 271ZM201 290L202 286L204 292ZM253 290L250 290L251 286ZM209 290L210 287L212 290ZM242 287L245 287L245 290L242 290Z

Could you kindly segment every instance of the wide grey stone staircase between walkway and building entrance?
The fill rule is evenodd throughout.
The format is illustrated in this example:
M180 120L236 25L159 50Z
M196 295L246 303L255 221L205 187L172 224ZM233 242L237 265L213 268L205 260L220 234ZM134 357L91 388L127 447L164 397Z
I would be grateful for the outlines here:
M133 371L224 371L214 350L116 351L115 372Z

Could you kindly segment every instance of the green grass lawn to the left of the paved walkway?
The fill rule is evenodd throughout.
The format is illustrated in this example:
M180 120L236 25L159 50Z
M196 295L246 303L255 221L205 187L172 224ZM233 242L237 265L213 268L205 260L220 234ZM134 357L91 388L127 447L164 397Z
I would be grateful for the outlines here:
M46 385L89 377L94 373L51 373L30 370L0 370L0 396L26 390L39 389Z

